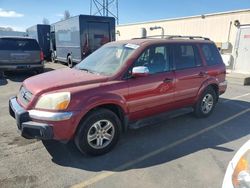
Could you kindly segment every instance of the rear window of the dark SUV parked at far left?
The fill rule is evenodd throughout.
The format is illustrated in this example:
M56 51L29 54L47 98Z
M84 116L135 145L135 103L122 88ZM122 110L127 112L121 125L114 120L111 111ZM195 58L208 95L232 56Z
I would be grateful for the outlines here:
M0 50L37 51L40 47L37 41L32 39L1 38Z

